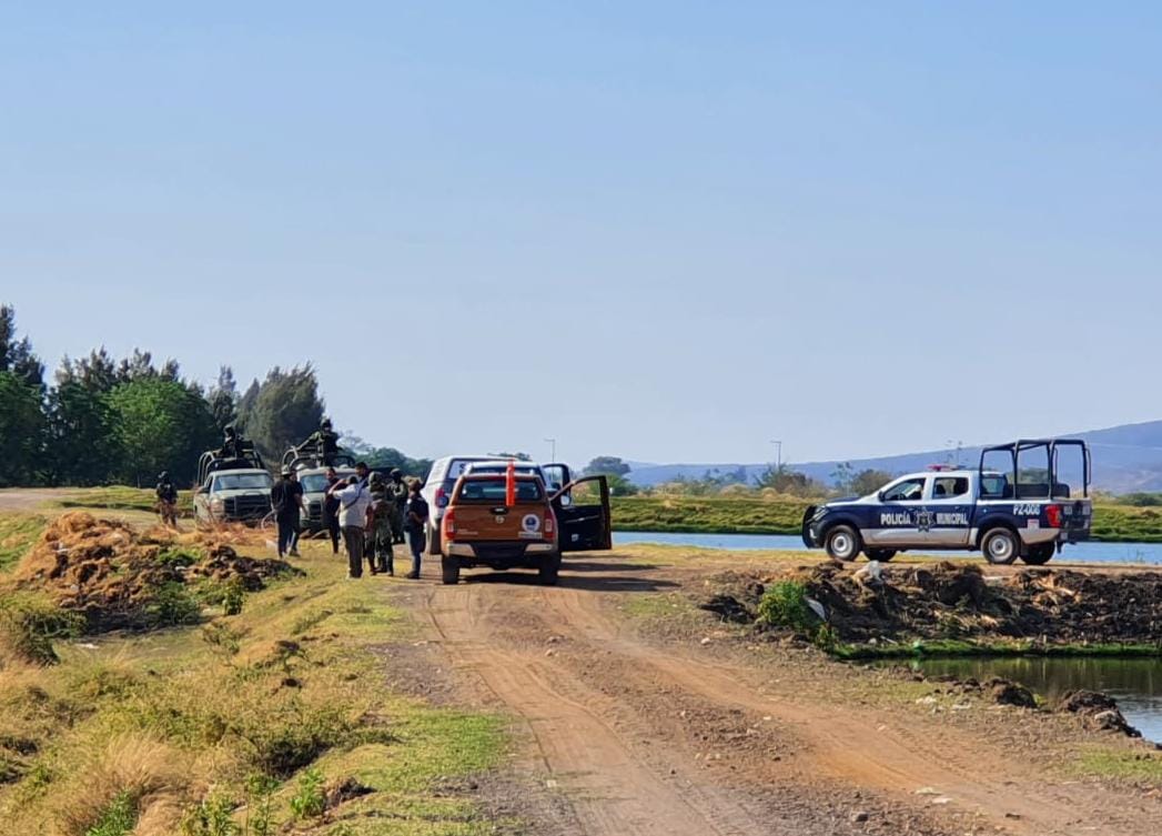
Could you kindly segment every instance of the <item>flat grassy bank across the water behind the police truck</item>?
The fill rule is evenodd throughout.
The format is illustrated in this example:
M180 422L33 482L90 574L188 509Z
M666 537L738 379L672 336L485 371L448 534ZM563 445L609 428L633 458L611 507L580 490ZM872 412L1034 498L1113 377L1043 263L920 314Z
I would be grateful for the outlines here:
M719 496L618 496L614 529L683 534L789 534L803 524L803 510L824 500L738 499ZM1162 508L1099 502L1093 508L1093 540L1110 543L1162 543Z

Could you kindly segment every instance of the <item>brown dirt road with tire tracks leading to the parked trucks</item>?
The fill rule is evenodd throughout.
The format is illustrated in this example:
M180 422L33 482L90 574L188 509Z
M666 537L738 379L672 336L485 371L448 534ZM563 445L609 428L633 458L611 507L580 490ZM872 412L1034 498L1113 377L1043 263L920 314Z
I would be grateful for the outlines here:
M516 719L524 767L555 799L533 833L1162 831L1156 799L1062 778L1010 728L1024 720L957 728L880 699L867 672L703 644L704 624L645 635L621 612L700 572L615 553L571 560L555 588L476 572L401 593L430 664Z

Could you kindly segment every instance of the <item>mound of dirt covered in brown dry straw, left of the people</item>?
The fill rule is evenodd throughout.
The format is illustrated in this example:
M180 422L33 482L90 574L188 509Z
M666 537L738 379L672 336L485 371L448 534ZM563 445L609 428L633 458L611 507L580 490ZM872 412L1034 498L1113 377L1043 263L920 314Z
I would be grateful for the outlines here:
M83 614L89 633L155 627L173 617L182 603L177 598L199 581L256 591L294 571L282 560L235 551L253 537L252 531L160 527L138 534L127 523L74 512L44 530L13 579L17 587L45 592L62 609Z

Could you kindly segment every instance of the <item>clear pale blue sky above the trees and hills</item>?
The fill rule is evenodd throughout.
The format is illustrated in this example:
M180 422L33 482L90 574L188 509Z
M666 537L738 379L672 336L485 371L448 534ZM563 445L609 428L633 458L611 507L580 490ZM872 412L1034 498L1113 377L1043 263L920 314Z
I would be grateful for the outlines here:
M26 3L0 299L413 455L1162 417L1162 6Z

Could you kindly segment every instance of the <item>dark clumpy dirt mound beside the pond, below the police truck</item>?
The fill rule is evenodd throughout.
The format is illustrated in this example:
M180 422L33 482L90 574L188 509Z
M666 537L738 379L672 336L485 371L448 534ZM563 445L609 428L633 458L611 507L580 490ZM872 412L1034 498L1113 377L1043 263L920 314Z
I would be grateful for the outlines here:
M727 612L753 614L769 584L797 580L809 598L823 605L827 622L844 642L1162 642L1162 573L1034 569L989 578L981 566L945 562L882 566L878 577L838 563L799 566L774 578L727 576L711 578L702 606L724 616Z

